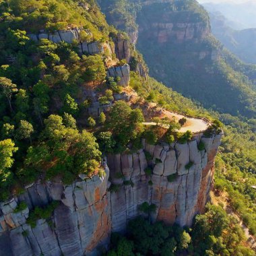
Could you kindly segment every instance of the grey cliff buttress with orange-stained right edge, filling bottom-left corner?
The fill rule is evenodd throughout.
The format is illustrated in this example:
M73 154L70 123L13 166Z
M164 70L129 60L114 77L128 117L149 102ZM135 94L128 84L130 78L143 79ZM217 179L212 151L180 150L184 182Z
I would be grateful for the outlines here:
M105 172L105 177L81 179L69 186L38 182L1 203L0 255L97 255L96 247L108 245L111 232L107 166ZM37 220L34 228L26 224L35 206L53 200L60 204L51 220ZM20 201L28 207L13 211Z

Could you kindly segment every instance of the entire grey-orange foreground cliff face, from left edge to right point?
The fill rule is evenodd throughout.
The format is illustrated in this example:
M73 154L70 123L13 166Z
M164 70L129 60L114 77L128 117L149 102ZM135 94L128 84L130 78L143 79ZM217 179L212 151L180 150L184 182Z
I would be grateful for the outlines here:
M145 201L156 205L153 221L191 225L195 214L204 211L220 139L221 135L197 135L189 143L171 146L143 141L143 149L133 154L108 156L105 177L68 186L40 181L27 186L22 195L0 203L0 255L100 255L97 249L108 245L110 232L124 232L127 221L143 214L139 205ZM197 150L200 140L203 151ZM152 156L148 162L146 151ZM193 165L188 169L189 162ZM144 171L148 166L150 177ZM119 187L116 192L108 191L108 178ZM53 200L60 204L50 220L37 220L35 228L26 224L35 206ZM28 207L15 212L20 201Z

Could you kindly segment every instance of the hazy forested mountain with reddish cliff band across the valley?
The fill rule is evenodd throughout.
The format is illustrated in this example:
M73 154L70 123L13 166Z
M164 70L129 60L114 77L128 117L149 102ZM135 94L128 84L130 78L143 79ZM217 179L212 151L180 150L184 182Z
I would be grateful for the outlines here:
M137 48L153 77L206 108L255 115L251 82L224 61L207 12L196 1L141 1L135 19Z

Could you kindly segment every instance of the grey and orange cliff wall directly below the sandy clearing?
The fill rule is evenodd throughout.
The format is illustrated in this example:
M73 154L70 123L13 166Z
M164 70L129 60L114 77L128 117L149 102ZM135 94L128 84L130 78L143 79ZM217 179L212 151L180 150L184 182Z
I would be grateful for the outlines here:
M110 194L113 231L125 229L124 220L141 214L138 205L147 201L157 207L152 220L174 222L181 226L191 225L195 214L202 213L214 173L214 157L220 145L221 135L212 138L197 135L193 141L172 146L152 146L144 143L144 150L129 155L108 156L110 180L122 185L117 192ZM202 140L205 150L199 151L197 144ZM144 170L147 163L144 152L152 156L152 177ZM190 168L185 166L192 162ZM172 175L173 180L168 182ZM148 182L152 181L152 185ZM127 183L125 183L127 184Z

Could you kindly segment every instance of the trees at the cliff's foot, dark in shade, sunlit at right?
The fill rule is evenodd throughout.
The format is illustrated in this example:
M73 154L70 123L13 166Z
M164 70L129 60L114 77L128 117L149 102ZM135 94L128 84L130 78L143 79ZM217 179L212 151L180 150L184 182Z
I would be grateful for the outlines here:
M142 217L131 220L126 236L112 234L107 255L255 255L243 246L243 239L243 230L234 218L220 206L207 205L206 213L195 217L192 228L151 224Z

